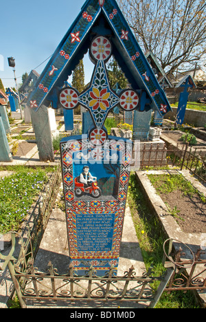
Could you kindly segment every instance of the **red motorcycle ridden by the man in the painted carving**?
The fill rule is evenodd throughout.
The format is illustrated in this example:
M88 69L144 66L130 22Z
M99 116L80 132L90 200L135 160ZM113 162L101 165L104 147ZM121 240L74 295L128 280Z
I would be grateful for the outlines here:
M74 179L74 192L77 197L81 197L85 193L92 195L94 198L98 198L102 195L102 191L98 186L97 181L91 182L91 186L86 188L82 182L78 182L78 178Z

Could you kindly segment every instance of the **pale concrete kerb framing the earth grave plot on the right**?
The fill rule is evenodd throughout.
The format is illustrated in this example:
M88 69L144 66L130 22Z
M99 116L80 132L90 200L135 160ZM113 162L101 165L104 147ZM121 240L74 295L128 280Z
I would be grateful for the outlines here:
M172 173L172 174L181 174L186 180L189 180L193 186L200 192L203 193L206 197L206 188L198 182L192 175L190 175L189 171L177 171L177 170L161 170L161 171L137 171L136 177L137 181L139 182L141 189L146 196L146 199L148 200L148 205L154 211L157 218L159 219L159 222L163 228L163 231L165 232L165 235L170 239L175 239L177 241L181 241L181 243L186 244L190 247L192 252L196 253L196 251L201 247L202 249L205 249L206 247L206 232L205 233L184 233L183 230L181 230L181 227L179 224L177 224L176 220L170 213L168 213L168 208L161 199L161 197L157 194L157 191L155 190L154 186L152 186L148 175L149 174L162 174L162 173ZM179 248L179 244L176 245ZM183 248L182 244L181 247ZM190 251L186 248L183 249L183 251L186 253L186 258L192 259L192 254ZM206 253L205 255L201 255L202 259L206 259ZM187 272L190 272L187 270ZM195 274L198 274L198 270L196 270ZM206 277L205 275L202 275L203 277ZM198 296L201 298L201 301L203 302L204 307L206 306L206 291L203 293L198 292Z

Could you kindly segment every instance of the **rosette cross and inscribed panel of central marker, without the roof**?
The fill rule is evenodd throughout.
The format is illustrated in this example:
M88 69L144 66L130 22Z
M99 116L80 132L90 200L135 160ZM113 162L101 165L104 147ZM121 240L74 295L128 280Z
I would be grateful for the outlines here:
M82 275L90 266L98 275L105 275L111 265L117 268L119 261L132 142L108 138L103 125L108 111L117 104L133 110L139 96L132 89L119 96L111 90L105 67L111 52L108 39L95 37L90 48L95 62L91 85L81 94L66 87L59 95L65 109L81 104L93 120L87 129L89 138L76 136L60 143L69 255Z

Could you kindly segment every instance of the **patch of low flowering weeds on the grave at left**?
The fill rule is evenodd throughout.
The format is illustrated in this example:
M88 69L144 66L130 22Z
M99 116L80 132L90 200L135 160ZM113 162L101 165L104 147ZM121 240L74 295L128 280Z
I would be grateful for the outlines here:
M0 233L19 229L47 180L43 169L21 169L0 180Z

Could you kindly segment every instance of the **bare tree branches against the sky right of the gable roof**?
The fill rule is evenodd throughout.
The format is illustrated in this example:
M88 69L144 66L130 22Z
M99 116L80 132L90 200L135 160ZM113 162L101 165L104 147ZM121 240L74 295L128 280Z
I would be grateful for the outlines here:
M205 0L117 0L139 45L165 72L190 68L206 53Z

